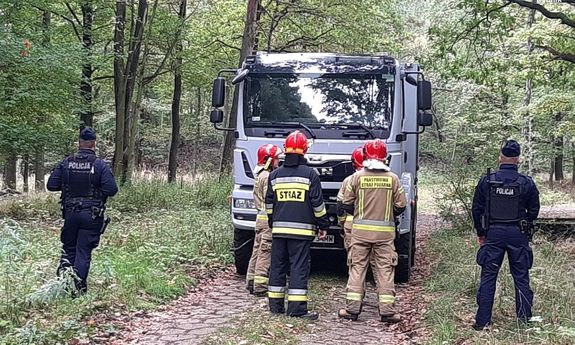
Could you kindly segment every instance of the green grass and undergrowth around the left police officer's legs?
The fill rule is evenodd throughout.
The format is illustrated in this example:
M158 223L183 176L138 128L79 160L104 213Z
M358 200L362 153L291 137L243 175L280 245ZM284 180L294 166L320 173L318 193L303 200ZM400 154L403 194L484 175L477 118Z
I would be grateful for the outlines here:
M67 297L55 270L57 198L0 205L0 344L58 344L115 332L105 315L154 308L187 291L193 273L231 262L228 181L154 181L121 189L94 252L89 293Z

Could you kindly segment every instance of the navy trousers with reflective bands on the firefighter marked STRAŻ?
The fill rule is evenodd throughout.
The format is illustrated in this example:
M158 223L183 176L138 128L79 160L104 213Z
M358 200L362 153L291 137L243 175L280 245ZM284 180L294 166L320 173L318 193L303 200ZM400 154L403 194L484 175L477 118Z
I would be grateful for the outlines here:
M273 238L268 286L269 306L272 313L279 314L285 311L286 277L289 273L287 315L307 314L310 245L310 240Z

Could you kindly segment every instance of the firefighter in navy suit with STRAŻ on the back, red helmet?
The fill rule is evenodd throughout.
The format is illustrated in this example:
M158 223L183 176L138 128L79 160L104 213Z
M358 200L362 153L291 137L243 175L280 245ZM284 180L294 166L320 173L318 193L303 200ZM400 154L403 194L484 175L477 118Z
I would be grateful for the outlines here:
M288 316L316 320L318 314L307 309L310 245L318 228L319 238L326 238L329 220L319 175L306 165L307 149L308 141L303 133L295 131L288 135L284 164L272 171L268 180L265 206L272 229L268 298L273 314L287 312Z

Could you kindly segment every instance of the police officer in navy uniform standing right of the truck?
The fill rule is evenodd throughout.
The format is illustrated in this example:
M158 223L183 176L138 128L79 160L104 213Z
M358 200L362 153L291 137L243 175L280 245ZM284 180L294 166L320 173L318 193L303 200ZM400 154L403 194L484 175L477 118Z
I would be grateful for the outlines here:
M517 171L520 153L519 144L508 140L501 148L499 170L481 178L473 196L473 223L481 246L477 253L481 266L479 308L473 325L478 331L491 323L495 283L505 253L515 282L517 318L528 321L531 317L533 252L525 225L532 224L539 214L539 191L531 177Z

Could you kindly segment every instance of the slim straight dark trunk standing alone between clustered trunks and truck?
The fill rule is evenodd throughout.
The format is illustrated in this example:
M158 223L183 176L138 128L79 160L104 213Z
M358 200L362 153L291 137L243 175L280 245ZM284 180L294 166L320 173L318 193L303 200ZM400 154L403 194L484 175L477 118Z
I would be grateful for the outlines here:
M181 0L180 25L184 25L186 19L187 1ZM179 31L180 32L180 31ZM170 143L170 158L168 160L168 182L176 181L176 170L178 168L178 146L180 146L180 101L182 99L182 40L178 35L176 43L176 65L174 71L174 94L172 97L172 141Z

